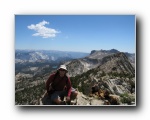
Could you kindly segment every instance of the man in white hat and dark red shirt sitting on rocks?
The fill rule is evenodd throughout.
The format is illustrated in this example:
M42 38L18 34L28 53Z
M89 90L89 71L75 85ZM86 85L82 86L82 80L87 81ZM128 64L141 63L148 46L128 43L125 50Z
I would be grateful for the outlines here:
M65 65L61 65L56 73L51 74L46 81L46 90L51 101L56 105L70 104L72 99L77 97L77 91L71 87L70 78ZM66 101L63 101L66 97Z

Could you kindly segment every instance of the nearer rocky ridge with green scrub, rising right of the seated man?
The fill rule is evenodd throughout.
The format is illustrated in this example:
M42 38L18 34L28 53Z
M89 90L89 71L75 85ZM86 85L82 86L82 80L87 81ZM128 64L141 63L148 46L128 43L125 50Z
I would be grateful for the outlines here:
M73 85L84 95L91 96L92 88L97 87L95 90L97 97L104 101L112 97L117 99L117 102L109 104L135 102L135 69L124 53L103 57L97 67L71 79Z

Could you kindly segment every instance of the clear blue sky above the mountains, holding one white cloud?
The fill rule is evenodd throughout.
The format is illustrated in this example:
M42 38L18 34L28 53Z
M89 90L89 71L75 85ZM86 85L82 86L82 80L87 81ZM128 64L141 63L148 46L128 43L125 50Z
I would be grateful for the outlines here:
M15 15L15 49L135 53L135 15Z

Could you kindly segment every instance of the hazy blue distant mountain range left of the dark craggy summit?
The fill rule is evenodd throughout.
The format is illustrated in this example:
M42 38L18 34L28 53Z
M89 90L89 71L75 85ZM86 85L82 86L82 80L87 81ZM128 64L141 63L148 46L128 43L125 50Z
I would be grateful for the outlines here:
M62 61L83 58L89 53L56 50L15 50L15 63L47 61Z

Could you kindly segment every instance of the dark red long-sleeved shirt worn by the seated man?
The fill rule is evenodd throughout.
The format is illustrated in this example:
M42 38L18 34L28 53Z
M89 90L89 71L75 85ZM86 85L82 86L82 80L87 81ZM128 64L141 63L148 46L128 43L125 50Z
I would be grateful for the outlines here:
M71 95L71 81L70 78L66 75L64 77L60 77L59 74L56 75L56 73L50 75L48 80L46 81L46 90L49 91L49 85L52 84L52 88L55 91L63 91L65 86L68 92L68 96ZM55 79L54 79L55 77Z

